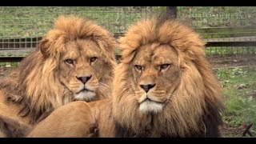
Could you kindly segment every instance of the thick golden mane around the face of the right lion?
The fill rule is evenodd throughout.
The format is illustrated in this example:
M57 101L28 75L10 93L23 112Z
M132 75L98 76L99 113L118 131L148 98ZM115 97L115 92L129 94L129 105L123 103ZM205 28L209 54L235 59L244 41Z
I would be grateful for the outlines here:
M122 61L114 78L113 114L123 127L154 137L185 137L204 132L207 118L221 123L222 89L204 54L204 42L189 27L173 19L147 18L130 27L119 39ZM139 47L149 43L167 44L178 54L181 82L166 108L154 115L139 113L131 89L132 62ZM152 126L154 123L154 126Z

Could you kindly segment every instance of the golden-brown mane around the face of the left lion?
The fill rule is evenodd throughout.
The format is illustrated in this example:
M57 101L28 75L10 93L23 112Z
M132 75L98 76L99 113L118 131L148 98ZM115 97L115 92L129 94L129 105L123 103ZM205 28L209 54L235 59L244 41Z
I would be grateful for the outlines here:
M17 70L0 84L7 99L22 104L21 113L28 114L31 122L36 122L46 112L72 102L70 91L58 80L58 61L65 51L66 42L86 38L97 43L104 61L110 66L109 70L114 70L114 37L90 20L62 16L55 21L54 29L42 38L36 50L24 58ZM112 73L105 78L101 94L110 95Z

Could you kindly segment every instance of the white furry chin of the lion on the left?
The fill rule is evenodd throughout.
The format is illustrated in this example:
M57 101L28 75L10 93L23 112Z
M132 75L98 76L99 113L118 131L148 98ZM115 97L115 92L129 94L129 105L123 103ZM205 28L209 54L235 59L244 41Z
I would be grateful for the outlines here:
M90 90L82 90L78 94L74 94L74 100L76 101L90 102L94 100L95 97L96 97L95 92Z

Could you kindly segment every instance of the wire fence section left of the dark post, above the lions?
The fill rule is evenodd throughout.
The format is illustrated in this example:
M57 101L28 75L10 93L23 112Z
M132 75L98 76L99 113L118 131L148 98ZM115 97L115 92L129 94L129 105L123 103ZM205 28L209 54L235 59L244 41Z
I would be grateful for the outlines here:
M54 26L55 18L79 15L122 35L131 23L164 7L0 7L0 54L27 54Z

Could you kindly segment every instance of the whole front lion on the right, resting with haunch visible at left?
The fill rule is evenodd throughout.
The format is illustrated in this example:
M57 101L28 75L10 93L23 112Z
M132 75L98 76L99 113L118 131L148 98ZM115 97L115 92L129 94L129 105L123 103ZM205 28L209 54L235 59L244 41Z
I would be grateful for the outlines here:
M198 34L176 20L147 18L119 42L122 62L115 69L112 98L60 108L27 137L80 137L88 131L95 137L220 136L222 90ZM66 112L83 105L86 110ZM85 123L66 134L63 128L79 124L63 115ZM96 127L86 123L90 118ZM62 124L51 129L56 122Z

